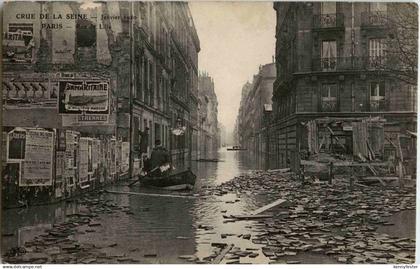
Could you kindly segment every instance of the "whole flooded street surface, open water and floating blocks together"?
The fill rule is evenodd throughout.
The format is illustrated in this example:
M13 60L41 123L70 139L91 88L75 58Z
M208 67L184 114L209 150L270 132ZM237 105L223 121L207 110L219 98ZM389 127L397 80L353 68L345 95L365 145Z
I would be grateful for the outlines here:
M108 187L114 191L186 197L114 194L100 190L73 202L5 210L2 255L5 257L7 252L16 251L16 247L24 247L26 254L10 259L6 257L6 260L12 263L212 263L220 253L219 247L233 244L221 263L387 262L379 257L378 260L362 260L358 256L360 251L351 255L352 243L364 241L365 245L360 246L367 250L369 236L374 236L381 240L375 243L377 251L385 251L388 255L393 251L396 253L382 259L390 259L388 262L393 263L397 259L399 262L414 262L415 195L410 194L414 192L383 190L389 206L381 207L377 203L380 199L375 200L375 193L382 193L379 189L366 187L366 195L359 194L353 199L353 204L349 199L353 196L342 193L347 187L310 186L311 193L325 190L331 197L340 195L342 199L339 200L350 195L347 210L338 200L335 205L331 202L319 205L322 195L306 195L302 199L302 193L307 192L308 187L292 191L296 182L289 178L287 184L292 185L281 185L281 182L285 183L281 173L250 171L251 166L241 161L241 154L244 153L222 148L218 156L220 162L194 162L197 184L189 194L163 193L137 185L129 188L127 182ZM258 185L259 179L263 179L264 184ZM229 218L246 214L279 198L285 198L291 204L269 210L272 218L240 221ZM366 201L360 202L363 198ZM312 202L308 203L311 199ZM334 206L338 208L335 211ZM364 212L357 210L365 214L364 219L342 214L356 206L365 208ZM373 214L367 214L369 210ZM319 215L312 218L314 214ZM375 215L378 216L376 220ZM384 221L380 224L377 220L383 216ZM316 220L325 217L322 226L317 226ZM374 220L378 225L372 224ZM363 222L363 227L359 221ZM346 223L345 227L343 223ZM335 236L337 242L328 239L329 236ZM308 241L304 241L306 239ZM328 241L328 249L322 247L323 240L325 244ZM345 242L339 244L340 240ZM298 241L306 243L293 243ZM287 246L283 252L279 248L282 242ZM393 249L387 250L387 242L393 244ZM395 244L400 244L400 247L395 249ZM296 246L295 250L291 251L293 246ZM347 247L349 259L346 261L337 260L340 246ZM355 257L359 260L354 260Z

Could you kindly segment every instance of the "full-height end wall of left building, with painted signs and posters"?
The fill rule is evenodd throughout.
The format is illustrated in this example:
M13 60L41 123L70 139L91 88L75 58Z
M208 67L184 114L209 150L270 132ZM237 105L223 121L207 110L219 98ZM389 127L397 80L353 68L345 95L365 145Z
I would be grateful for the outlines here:
M128 174L116 126L119 67L129 60L123 29L101 28L110 6L101 7L4 6L4 206L65 199Z

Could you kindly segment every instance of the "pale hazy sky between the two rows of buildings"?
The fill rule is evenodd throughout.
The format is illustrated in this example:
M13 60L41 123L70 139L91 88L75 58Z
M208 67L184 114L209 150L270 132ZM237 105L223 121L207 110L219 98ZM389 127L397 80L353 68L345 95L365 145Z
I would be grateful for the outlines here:
M242 86L275 55L273 2L190 2L200 39L198 67L214 79L218 120L231 132Z

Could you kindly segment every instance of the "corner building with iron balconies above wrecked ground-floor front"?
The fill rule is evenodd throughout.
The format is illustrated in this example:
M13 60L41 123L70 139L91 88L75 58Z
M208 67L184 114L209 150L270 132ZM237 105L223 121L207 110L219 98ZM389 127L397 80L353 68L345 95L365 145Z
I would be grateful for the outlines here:
M407 131L416 132L417 82L387 71L401 66L387 53L398 31L392 10L404 8L399 5L274 3L277 78L270 168L297 168L302 152L336 146L355 157L387 159ZM363 141L358 138L362 125Z

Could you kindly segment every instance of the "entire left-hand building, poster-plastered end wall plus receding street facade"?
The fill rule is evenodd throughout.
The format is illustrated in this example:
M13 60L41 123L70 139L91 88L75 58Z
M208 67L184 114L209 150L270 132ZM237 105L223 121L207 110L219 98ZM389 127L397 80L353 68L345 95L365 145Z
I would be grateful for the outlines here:
M190 165L200 45L187 3L9 2L3 10L5 206L135 176L157 139L177 168Z

